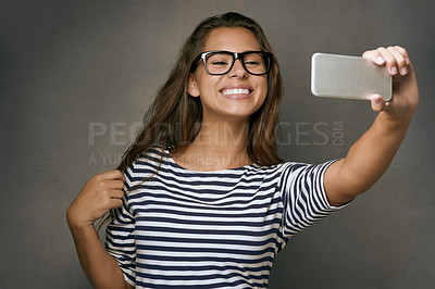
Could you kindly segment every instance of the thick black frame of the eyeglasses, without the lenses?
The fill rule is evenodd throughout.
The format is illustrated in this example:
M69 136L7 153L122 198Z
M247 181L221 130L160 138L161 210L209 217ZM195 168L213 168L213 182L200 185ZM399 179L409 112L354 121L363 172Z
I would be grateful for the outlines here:
M207 55L208 55L208 54L211 54L211 53L217 53L217 52L223 52L223 53L233 55L233 63L232 63L232 65L229 66L228 71L225 72L225 73L210 73L209 70L207 68ZM245 61L244 61L244 56L245 56L246 54L250 54L250 53L261 53L261 54L263 54L263 55L266 56L265 59L269 61L269 62L268 62L269 65L268 65L268 67L266 67L265 73L251 73L251 72L246 67ZM236 60L237 60L237 59L240 61L241 66L244 67L244 70L245 70L247 73L251 74L251 75L265 75L265 74L268 74L268 73L271 71L272 65L273 65L273 53L272 53L272 52L268 52L268 51L231 52L231 51L226 51L226 50L213 50L213 51L201 52L197 58L195 58L192 67L191 67L191 70L190 70L191 72L194 72L194 71L198 67L197 62L198 62L200 59L202 59L202 63L203 63L203 65L204 65L206 72L207 72L208 74L210 74L210 75L224 75L224 74L227 74L228 72L231 72L231 70L233 70L234 63L236 63Z

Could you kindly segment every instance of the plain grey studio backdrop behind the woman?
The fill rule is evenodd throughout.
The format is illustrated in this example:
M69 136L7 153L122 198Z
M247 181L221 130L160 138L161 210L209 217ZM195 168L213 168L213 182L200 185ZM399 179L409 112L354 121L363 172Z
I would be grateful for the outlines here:
M0 2L0 288L91 288L65 210L113 169L204 17L257 20L282 68L279 153L344 156L375 117L369 102L310 93L314 52L409 50L421 105L386 175L290 240L270 288L435 288L433 1Z

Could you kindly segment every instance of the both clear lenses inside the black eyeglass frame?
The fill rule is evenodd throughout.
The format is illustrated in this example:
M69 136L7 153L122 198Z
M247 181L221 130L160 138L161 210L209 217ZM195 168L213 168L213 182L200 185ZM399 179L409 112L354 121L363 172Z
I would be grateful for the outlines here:
M233 66L233 54L224 52L212 52L206 58L207 70L210 74L225 74ZM269 61L262 53L252 52L244 54L245 68L252 74L265 74Z

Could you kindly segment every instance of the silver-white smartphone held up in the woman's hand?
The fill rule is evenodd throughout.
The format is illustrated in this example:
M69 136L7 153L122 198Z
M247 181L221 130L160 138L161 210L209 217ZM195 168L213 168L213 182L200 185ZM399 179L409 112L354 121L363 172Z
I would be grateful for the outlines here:
M391 99L393 80L385 66L359 56L314 53L311 58L311 92L316 97Z

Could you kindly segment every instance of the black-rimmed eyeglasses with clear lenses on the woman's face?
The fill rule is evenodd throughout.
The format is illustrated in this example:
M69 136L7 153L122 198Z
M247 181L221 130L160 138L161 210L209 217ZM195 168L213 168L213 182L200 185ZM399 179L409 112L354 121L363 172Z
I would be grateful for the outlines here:
M208 51L198 55L197 61L202 59L206 72L211 75L227 74L234 66L236 60L240 60L245 71L252 75L264 75L269 73L273 63L273 54L265 51ZM196 61L196 62L197 62ZM192 66L192 70L196 68Z

